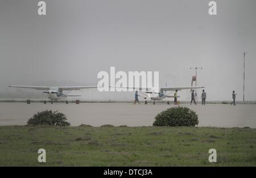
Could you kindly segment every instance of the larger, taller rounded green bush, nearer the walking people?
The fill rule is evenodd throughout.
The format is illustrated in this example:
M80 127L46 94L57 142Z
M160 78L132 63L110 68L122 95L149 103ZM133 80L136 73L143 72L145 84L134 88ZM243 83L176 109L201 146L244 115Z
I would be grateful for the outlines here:
M199 124L196 112L187 107L169 108L155 116L153 126L195 126Z

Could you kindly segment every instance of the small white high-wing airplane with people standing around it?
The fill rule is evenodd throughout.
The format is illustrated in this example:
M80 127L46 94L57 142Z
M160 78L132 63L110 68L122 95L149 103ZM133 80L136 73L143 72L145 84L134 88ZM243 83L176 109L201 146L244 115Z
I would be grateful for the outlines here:
M143 95L142 97L144 99L153 100L153 104L155 104L156 100L163 100L166 98L174 98L174 96L173 95L171 96L170 94L176 90L181 91L181 90L192 90L192 89L205 88L205 87L201 87L201 86L197 86L197 87L162 87L162 88L160 88L159 91L155 91L154 88L116 87L116 86L110 86L110 87L126 88L127 91L129 91L129 89L133 89L134 91L139 91ZM171 91L171 92L167 94L167 91ZM179 98L179 97L180 96L177 96L177 98ZM169 101L167 101L167 103L169 104Z

